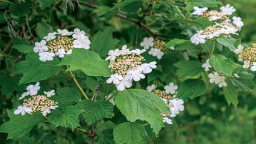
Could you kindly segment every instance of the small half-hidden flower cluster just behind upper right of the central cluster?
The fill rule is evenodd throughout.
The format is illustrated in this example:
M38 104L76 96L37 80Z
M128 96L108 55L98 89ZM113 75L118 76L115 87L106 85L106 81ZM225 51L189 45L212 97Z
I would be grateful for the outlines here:
M140 46L144 49L149 49L148 54L157 57L158 59L161 59L164 55L164 49L166 48L166 43L161 40L154 40L154 38L143 38L142 43L140 43Z

